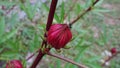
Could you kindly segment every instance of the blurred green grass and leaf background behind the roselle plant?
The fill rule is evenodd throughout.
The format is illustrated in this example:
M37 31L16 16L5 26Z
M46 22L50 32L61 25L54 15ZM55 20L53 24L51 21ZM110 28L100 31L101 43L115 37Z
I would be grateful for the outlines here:
M53 23L69 23L93 1L58 0ZM21 60L29 68L37 53L29 61L26 58L40 48L50 3L51 0L0 0L0 68L12 59ZM105 62L112 56L112 48L120 51L120 0L100 0L71 30L73 39L68 49L58 52L53 48L52 53L89 68L120 67L120 54ZM78 67L46 55L37 68Z

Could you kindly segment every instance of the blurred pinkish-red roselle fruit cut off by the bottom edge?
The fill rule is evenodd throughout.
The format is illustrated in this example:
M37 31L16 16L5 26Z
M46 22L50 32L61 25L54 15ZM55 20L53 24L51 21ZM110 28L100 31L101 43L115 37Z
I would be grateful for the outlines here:
M21 61L11 60L6 64L6 68L23 68Z

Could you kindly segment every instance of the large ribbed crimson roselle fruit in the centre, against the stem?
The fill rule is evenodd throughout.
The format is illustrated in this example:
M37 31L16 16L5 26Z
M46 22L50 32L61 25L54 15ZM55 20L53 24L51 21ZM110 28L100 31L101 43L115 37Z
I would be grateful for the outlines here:
M47 34L47 42L55 49L63 48L72 39L67 24L53 24Z

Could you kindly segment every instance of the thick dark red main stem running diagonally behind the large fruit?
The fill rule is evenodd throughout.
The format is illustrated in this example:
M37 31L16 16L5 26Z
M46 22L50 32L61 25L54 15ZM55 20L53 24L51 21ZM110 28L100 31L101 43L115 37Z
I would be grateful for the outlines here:
M49 30L50 26L52 25L53 22L53 17L54 17L54 13L55 13L55 9L56 9L56 5L57 5L58 0L52 0L51 2L51 6L50 6L50 11L49 11L49 15L48 15L48 21L47 21L47 25L46 25L46 31ZM46 33L44 34L44 37L46 38L47 35ZM43 40L42 45L41 46L47 46L47 41ZM47 52L49 52L50 48L47 50ZM44 50L45 51L45 50ZM42 57L45 55L45 52L43 52L41 49L39 50L39 53L37 55L37 57L35 58L32 66L30 68L36 68L36 66L38 65L39 61L42 59Z

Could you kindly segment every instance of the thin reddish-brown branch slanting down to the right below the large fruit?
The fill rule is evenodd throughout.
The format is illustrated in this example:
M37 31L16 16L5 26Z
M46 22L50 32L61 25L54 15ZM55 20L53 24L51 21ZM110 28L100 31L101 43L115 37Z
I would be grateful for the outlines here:
M85 65L83 65L83 64L76 63L76 62L74 62L74 61L71 60L71 59L68 59L68 58L59 56L59 55L57 55L57 54L52 54L52 53L50 53L50 52L48 52L47 54L50 55L50 56L59 58L59 59L61 59L61 60L64 60L64 61L66 61L66 62L72 63L72 64L74 64L74 65L77 65L77 66L80 67L80 68L88 68L87 66L85 66Z

